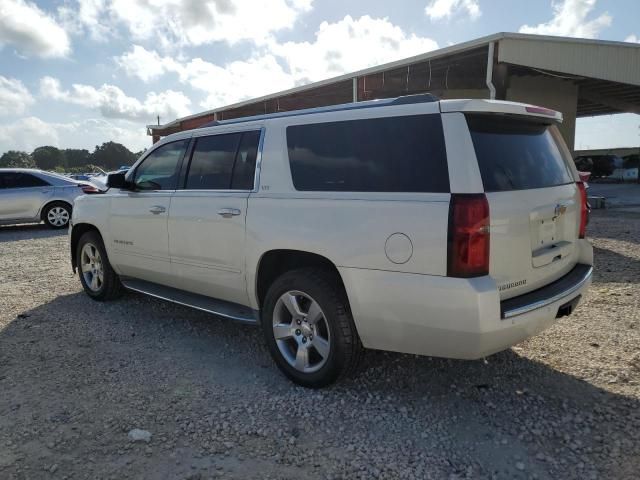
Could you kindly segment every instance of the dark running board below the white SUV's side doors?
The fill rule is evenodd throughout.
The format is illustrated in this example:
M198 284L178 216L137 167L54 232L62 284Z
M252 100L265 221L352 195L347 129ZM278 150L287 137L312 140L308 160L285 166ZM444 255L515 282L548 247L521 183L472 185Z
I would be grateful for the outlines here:
M244 305L225 302L215 298L186 292L177 288L158 285L157 283L138 280L136 278L121 277L120 281L129 290L144 293L151 297L185 305L187 307L213 313L221 317L230 318L244 323L258 323L258 312Z

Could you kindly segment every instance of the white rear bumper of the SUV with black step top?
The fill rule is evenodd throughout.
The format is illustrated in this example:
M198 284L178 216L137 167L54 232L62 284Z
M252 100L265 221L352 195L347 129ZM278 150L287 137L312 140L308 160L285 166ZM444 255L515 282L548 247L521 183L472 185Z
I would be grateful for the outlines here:
M543 289L500 302L490 277L339 270L365 347L459 359L505 350L553 325L560 307L584 298L592 276L590 265L578 265Z

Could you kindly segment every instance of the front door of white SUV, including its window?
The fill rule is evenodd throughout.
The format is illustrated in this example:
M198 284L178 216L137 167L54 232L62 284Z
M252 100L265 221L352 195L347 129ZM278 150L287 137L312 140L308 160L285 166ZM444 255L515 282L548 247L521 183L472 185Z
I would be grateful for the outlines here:
M128 176L129 190L111 196L109 256L120 274L168 284L167 218L189 139L161 145Z

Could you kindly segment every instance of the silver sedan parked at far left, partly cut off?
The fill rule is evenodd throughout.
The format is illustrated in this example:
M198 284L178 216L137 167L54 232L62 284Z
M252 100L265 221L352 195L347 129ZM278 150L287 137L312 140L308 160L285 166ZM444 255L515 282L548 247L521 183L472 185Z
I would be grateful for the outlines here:
M94 185L55 173L0 168L0 225L44 221L52 228L65 228L75 198L98 191Z

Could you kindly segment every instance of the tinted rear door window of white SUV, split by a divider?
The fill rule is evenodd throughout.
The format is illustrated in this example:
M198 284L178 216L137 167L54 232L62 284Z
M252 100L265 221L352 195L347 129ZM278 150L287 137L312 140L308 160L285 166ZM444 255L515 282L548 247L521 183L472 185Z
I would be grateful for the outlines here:
M185 188L251 190L259 139L259 131L198 138Z

